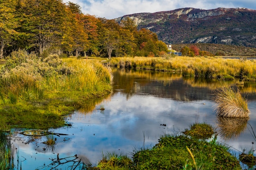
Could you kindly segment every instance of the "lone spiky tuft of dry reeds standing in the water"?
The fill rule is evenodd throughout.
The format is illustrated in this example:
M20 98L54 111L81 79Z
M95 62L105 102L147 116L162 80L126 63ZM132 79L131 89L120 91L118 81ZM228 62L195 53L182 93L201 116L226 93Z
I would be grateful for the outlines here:
M249 118L247 100L243 98L239 89L231 86L222 87L216 92L216 115L226 118Z

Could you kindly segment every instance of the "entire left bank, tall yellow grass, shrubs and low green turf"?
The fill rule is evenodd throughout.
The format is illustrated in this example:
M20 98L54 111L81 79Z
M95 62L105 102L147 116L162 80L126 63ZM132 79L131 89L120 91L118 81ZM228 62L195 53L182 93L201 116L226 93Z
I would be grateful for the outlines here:
M8 128L47 129L64 125L63 116L86 99L111 92L110 68L99 61L45 59L13 52L1 69L0 123Z

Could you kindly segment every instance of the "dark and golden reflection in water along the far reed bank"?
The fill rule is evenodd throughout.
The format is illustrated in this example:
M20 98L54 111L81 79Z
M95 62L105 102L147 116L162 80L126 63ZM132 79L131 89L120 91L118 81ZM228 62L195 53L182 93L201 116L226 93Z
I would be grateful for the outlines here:
M211 100L216 88L235 85L237 80L220 82L212 79L183 78L181 74L152 70L128 70L113 68L114 90L123 89L127 100L135 94L150 94L162 98L173 98L181 101ZM256 83L247 82L238 87L247 94L247 98L256 93ZM254 94L252 94L252 92ZM251 94L251 95L249 95Z

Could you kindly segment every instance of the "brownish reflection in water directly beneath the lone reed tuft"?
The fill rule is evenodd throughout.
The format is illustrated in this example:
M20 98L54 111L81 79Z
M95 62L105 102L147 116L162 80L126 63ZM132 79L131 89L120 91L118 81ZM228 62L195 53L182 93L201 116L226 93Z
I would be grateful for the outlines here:
M249 118L223 118L217 117L218 133L228 140L236 139L245 131Z

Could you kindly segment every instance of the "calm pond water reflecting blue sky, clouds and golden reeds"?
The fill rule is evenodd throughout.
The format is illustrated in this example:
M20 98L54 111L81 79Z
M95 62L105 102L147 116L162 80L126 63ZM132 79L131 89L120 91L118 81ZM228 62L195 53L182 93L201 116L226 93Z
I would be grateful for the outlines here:
M112 94L90 100L67 116L72 127L50 129L68 134L54 135L57 144L53 149L42 143L45 136L13 135L22 169L70 169L80 159L96 165L102 154L113 152L131 156L133 150L154 146L161 135L180 134L196 122L213 125L218 131L218 141L229 145L236 156L244 149L252 149L252 142L256 142L255 83L238 87L248 98L250 119L220 120L216 118L213 100L215 89L222 86L219 81L184 79L179 74L145 70L114 69L113 76ZM236 86L236 80L226 83ZM105 110L99 110L100 107ZM67 159L51 165L58 153L60 159ZM79 158L65 163L74 155Z

